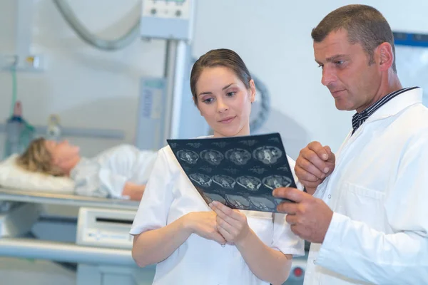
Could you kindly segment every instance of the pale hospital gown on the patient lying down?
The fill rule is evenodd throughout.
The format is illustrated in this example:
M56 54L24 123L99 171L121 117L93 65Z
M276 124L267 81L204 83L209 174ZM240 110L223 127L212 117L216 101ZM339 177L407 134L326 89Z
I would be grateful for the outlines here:
M77 195L121 198L126 182L146 184L156 152L119 145L91 159L82 157L71 170Z

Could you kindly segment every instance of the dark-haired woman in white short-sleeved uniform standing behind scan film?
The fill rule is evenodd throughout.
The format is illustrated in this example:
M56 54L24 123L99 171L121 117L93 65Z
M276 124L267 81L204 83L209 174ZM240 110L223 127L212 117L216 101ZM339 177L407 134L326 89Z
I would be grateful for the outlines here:
M201 56L190 87L215 138L250 135L255 85L238 54L219 49ZM153 284L282 284L292 254L303 254L285 214L211 207L170 147L159 150L130 232L136 263L157 263Z

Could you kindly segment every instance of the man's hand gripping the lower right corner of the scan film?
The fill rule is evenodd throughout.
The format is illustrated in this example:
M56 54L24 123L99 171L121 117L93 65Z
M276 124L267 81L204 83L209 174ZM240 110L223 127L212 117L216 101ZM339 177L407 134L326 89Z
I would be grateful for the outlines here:
M308 242L321 244L324 241L333 211L322 199L291 187L277 188L273 195L295 201L282 202L277 207L278 212L287 214L292 232Z

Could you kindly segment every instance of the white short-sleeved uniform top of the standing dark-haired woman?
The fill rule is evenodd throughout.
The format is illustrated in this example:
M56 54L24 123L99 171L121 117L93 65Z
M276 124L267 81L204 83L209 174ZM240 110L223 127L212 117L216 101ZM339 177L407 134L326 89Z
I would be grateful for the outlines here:
M289 159L290 167L294 162ZM159 150L151 177L133 221L131 234L159 229L189 212L211 211L193 187L169 146ZM285 214L242 211L248 224L267 246L283 254L304 254L304 242L291 232ZM250 270L234 245L191 234L156 266L156 285L264 285Z

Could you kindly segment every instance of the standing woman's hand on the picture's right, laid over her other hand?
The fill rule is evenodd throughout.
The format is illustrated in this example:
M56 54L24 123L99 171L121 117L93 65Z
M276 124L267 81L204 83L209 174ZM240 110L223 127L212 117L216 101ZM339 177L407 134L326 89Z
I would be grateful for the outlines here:
M229 244L237 244L247 237L250 227L245 214L218 201L211 202L210 207L217 214L218 232Z

